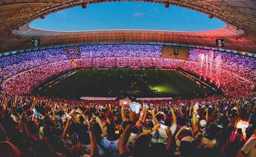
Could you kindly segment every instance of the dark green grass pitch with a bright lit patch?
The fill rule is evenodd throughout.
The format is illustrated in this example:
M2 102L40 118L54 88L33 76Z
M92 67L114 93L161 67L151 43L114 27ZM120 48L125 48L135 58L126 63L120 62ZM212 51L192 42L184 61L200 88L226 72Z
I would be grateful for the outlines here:
M41 96L79 98L102 97L169 97L194 98L212 94L178 71L162 70L79 70L74 75L51 84L37 92Z

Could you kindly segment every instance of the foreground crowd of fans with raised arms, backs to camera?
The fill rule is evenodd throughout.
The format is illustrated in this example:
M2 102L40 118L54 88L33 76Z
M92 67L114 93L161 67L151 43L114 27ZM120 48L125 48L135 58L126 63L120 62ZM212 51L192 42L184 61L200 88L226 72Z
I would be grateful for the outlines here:
M1 95L1 156L255 157L255 96L139 103Z

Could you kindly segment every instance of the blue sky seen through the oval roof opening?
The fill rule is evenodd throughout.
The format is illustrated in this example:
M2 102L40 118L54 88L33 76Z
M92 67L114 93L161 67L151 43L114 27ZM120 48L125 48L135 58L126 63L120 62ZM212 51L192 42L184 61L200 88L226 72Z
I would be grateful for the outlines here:
M160 3L110 2L81 6L49 14L35 20L30 27L55 31L102 29L154 29L171 31L203 31L225 27L206 14Z

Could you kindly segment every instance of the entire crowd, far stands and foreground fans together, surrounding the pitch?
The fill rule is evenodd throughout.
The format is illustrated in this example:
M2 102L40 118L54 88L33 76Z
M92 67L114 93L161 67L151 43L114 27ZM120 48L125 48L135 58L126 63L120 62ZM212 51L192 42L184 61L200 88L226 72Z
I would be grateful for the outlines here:
M255 157L256 60L200 49L174 60L162 51L110 44L0 58L0 156ZM53 75L95 67L182 68L224 96L140 101L139 114L118 101L28 96Z

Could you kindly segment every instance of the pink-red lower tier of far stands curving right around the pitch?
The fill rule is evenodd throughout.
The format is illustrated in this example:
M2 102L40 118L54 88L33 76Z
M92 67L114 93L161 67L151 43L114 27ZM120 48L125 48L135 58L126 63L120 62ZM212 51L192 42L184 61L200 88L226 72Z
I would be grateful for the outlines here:
M91 68L156 68L178 69L182 68L200 76L200 79L210 80L223 90L226 96L248 96L255 88L255 82L221 69L195 61L175 60L167 58L79 58L47 63L22 71L4 80L1 84L3 91L10 95L31 94L34 88L47 79L58 76L71 69Z

